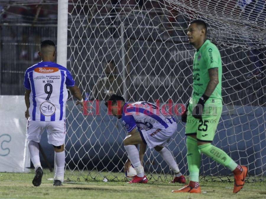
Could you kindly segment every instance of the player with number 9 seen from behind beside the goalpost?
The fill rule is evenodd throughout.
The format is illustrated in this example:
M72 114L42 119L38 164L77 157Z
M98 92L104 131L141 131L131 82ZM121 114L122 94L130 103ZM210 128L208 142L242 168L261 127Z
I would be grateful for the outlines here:
M76 105L80 104L82 108L83 99L69 70L54 63L55 44L51 40L41 42L38 54L42 61L26 70L23 83L27 106L25 117L28 119L28 148L30 159L35 167L32 183L36 187L41 184L43 170L38 143L46 129L48 143L53 145L56 152L53 185L61 186L64 181L67 88L78 99Z

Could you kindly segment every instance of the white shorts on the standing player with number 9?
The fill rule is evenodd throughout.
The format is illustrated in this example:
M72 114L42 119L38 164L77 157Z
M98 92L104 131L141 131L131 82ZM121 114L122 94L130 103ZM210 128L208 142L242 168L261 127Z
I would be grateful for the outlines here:
M61 146L66 138L66 120L61 121L32 121L28 120L27 140L40 142L41 135L46 129L48 143Z

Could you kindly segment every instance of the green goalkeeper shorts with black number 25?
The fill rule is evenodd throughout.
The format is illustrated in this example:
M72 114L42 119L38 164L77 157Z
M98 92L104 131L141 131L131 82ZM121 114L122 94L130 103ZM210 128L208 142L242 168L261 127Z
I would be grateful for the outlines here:
M186 135L197 135L198 141L212 142L222 114L222 101L218 99L214 103L205 103L202 121L192 116L193 108L194 106L190 103L186 119Z

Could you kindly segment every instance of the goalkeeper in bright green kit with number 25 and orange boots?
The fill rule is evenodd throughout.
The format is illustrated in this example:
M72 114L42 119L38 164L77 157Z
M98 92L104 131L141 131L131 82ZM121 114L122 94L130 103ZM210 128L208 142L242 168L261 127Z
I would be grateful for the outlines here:
M234 174L233 193L245 183L247 167L234 162L223 150L211 144L222 113L222 60L218 48L206 39L207 25L202 20L190 22L189 44L196 48L193 60L193 93L181 116L186 122L187 164L190 182L174 193L201 193L199 172L201 154L228 167Z

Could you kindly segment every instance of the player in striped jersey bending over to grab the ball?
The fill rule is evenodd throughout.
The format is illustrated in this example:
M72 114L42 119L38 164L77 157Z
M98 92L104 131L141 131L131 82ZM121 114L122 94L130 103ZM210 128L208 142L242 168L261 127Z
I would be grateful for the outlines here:
M171 182L185 183L185 177L179 171L173 155L163 147L170 141L177 129L176 121L172 116L162 108L148 102L125 103L124 98L116 94L111 95L108 101L105 102L108 110L118 119L122 118L128 131L124 139L124 147L128 154L124 170L127 170L132 163L137 172L129 183L148 182L142 166L147 145L150 149L154 148L158 151L174 171L175 178ZM140 153L136 147L137 144L140 144Z

